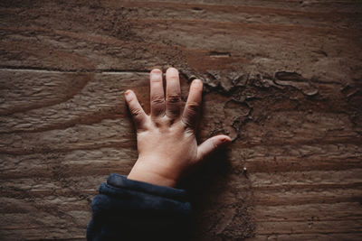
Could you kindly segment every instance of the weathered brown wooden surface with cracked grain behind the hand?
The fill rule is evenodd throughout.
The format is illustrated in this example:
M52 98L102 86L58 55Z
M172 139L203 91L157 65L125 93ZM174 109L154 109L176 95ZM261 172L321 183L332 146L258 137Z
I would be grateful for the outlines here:
M123 93L148 109L170 65L205 82L200 139L233 137L186 183L195 240L362 239L361 1L0 6L1 240L84 239L137 158Z

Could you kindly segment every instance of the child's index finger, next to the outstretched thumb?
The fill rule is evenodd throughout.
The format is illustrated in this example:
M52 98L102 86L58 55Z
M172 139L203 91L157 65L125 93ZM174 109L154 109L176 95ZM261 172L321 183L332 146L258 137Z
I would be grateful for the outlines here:
M201 100L203 95L203 82L200 79L195 79L190 86L182 121L185 125L195 130L197 117L200 112Z

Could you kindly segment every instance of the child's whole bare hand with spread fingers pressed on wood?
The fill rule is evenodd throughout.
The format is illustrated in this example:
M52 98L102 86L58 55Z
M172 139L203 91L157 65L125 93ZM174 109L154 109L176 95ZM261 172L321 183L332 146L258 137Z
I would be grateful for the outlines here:
M138 140L138 161L128 178L175 187L189 167L222 144L230 143L231 139L227 135L217 135L197 145L195 128L202 101L202 81L195 79L192 82L183 113L180 82L175 68L167 70L166 85L165 99L162 71L152 70L149 116L139 105L133 91L125 93Z

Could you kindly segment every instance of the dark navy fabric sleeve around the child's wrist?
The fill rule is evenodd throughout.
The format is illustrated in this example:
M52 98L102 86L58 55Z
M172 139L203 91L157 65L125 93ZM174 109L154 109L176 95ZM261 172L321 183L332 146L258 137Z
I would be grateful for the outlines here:
M91 203L87 240L185 240L186 191L110 174Z

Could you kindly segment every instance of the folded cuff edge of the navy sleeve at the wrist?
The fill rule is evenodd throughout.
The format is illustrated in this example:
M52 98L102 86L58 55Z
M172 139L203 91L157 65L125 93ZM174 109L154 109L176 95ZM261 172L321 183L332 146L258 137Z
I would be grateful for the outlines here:
M107 179L107 184L114 188L141 191L167 199L175 199L180 202L187 201L186 190L158 186L144 181L129 180L126 176L119 175L117 173L110 174L109 178Z

